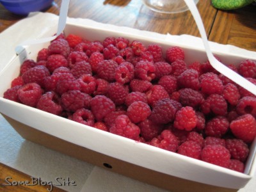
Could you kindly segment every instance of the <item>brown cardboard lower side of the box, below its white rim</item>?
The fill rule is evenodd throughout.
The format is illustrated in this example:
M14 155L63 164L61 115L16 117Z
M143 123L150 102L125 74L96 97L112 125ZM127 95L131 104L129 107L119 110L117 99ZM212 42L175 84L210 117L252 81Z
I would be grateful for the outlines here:
M159 188L168 189L170 191L208 191L208 192L231 192L237 191L237 189L221 188L218 186L211 186L208 184L202 184L199 182L193 182L191 180L181 179L166 175L163 173L155 172L135 164L127 163L119 159L115 159L104 154L100 154L88 148L84 148L78 145L74 145L60 138L46 134L45 132L38 131L33 127L21 124L12 118L3 115L4 118L12 125L12 127L22 136L24 139L33 141L52 150L56 150L68 156L75 157L87 163L95 164L96 166L106 168L107 170L115 173L131 177L132 179L140 180L152 184ZM205 177L207 175L202 175Z

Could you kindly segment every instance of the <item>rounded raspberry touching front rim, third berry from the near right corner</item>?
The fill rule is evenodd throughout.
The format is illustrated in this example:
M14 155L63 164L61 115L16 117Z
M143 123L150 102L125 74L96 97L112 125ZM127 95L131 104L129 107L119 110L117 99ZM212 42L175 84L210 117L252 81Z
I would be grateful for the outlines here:
M182 143L177 151L178 154L192 157L194 159L201 159L201 152L201 146L195 141L186 141Z

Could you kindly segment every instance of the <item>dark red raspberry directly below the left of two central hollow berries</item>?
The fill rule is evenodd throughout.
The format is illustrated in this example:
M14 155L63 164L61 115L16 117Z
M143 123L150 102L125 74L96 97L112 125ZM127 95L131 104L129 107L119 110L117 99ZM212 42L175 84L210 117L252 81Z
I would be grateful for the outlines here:
M113 100L116 105L124 104L125 97L129 94L129 91L123 84L118 82L110 83L108 86L108 97Z

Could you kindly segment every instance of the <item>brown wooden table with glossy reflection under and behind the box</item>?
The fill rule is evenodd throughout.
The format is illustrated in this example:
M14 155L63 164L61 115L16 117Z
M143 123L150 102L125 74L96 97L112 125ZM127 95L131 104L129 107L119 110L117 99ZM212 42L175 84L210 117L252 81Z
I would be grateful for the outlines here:
M60 4L61 0L55 0L44 11L58 15ZM256 51L256 6L251 4L239 10L221 11L213 8L210 0L200 0L197 7L209 40ZM163 34L200 36L190 12L156 13L143 6L140 0L72 0L68 17L81 17ZM0 5L0 33L20 19L24 17L13 15ZM8 176L16 180L30 179L29 175L0 164L0 191L45 191L44 186L4 188L2 184ZM54 188L54 191L62 190Z

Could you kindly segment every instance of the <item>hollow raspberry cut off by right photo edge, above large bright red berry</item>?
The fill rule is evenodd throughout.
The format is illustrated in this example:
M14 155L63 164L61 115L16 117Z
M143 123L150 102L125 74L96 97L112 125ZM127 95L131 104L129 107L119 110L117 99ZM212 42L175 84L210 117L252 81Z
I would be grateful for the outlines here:
M256 98L255 97L243 97L238 101L236 111L239 115L251 114L256 117Z

